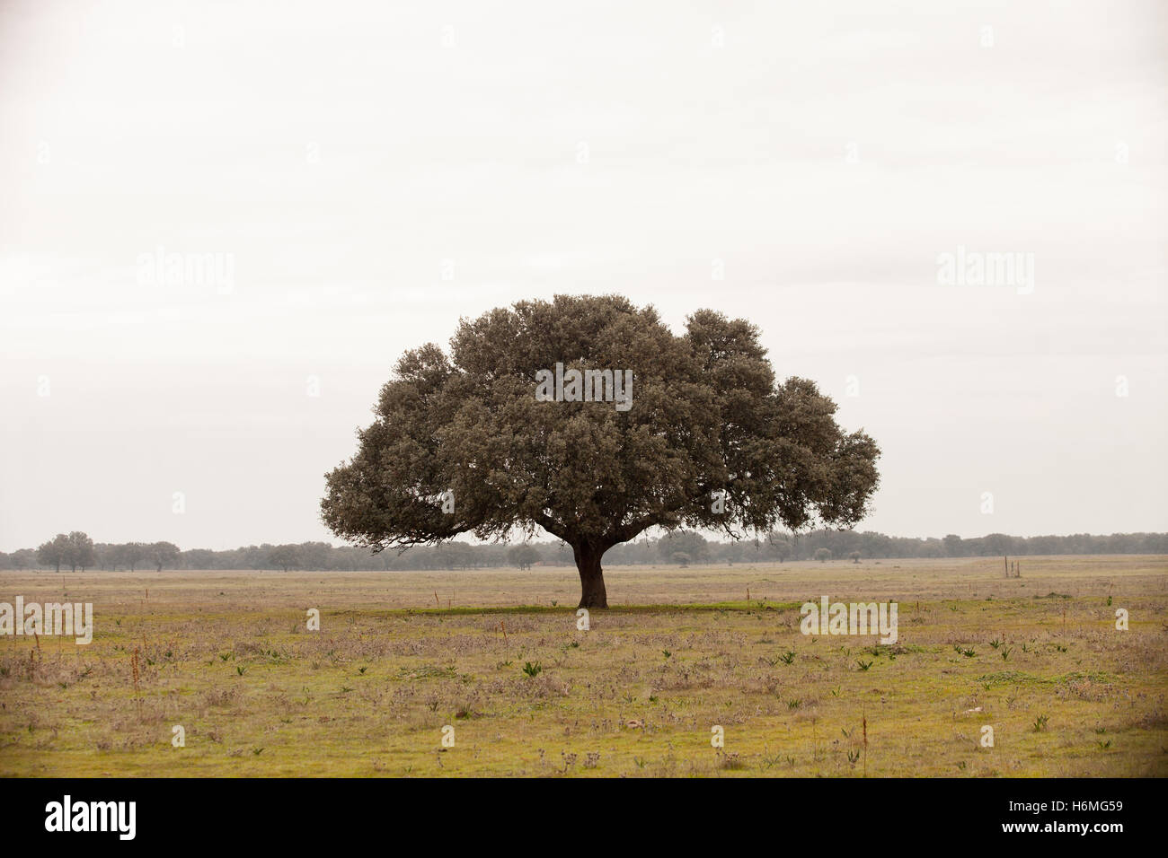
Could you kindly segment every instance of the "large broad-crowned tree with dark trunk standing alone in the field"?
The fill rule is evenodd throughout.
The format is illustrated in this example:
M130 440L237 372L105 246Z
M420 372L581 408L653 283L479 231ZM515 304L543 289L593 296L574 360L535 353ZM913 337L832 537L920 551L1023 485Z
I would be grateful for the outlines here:
M397 362L356 454L327 475L321 517L375 552L542 528L571 546L584 608L609 606L605 551L649 528L855 524L876 444L844 433L814 383L777 383L758 337L708 309L677 336L619 295L464 319L449 356L429 343Z

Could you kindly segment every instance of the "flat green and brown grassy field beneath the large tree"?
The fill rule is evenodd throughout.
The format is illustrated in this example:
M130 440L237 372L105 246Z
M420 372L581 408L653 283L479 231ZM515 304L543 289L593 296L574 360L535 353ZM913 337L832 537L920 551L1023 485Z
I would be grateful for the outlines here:
M95 633L0 637L0 775L1168 775L1166 557L605 578L585 633L571 568L4 572ZM898 642L800 634L821 595Z

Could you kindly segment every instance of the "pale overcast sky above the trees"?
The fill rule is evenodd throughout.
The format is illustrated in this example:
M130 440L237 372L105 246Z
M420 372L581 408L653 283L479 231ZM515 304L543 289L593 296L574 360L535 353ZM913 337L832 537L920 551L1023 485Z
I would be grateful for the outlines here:
M1166 8L0 0L0 550L336 542L401 353L558 292L756 322L860 529L1168 530Z

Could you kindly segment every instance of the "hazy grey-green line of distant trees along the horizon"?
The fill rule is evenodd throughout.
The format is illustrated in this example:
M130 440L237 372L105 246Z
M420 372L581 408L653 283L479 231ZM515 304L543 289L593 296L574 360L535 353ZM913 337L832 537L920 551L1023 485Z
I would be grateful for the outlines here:
M659 539L645 538L610 549L606 566L648 564L771 563L786 560L851 560L891 558L1001 557L1024 554L1168 554L1168 533L1092 536L1007 536L989 533L962 539L953 533L916 539L872 531L813 530L769 533L758 540L711 542L695 531L680 530ZM391 570L465 570L534 565L575 566L572 549L562 542L471 545L450 542L415 546L402 553L333 546L324 542L249 545L225 551L181 551L168 542L95 543L81 531L57 533L35 549L0 551L0 568L104 570L333 570L340 572Z

